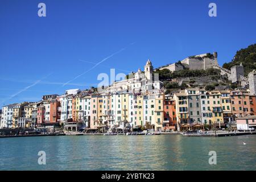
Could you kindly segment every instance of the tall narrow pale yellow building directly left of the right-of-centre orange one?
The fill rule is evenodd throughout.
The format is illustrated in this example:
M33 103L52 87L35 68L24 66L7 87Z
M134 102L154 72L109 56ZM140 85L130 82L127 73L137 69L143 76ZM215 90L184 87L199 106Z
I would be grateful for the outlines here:
M164 94L156 94L155 95L155 130L162 131L163 130L163 101Z

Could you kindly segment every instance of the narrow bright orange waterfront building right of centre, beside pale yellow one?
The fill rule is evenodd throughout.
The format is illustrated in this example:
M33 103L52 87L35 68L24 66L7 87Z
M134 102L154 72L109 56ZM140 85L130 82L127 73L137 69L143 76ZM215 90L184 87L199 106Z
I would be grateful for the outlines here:
M164 98L164 130L176 130L176 104L173 96L166 95Z

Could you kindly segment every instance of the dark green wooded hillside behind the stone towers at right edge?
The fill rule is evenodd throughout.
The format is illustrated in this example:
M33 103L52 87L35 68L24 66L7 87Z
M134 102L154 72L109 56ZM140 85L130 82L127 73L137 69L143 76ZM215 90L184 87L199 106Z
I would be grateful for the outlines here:
M223 64L223 68L230 69L234 65L240 65L240 63L243 65L245 76L256 69L256 44L237 51L233 60L230 63Z

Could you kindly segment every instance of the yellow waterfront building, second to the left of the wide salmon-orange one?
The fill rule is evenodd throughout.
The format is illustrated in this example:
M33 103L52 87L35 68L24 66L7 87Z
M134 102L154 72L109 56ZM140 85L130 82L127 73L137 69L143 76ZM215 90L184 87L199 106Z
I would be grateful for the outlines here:
M217 90L211 91L209 92L208 96L210 102L210 110L212 111L212 120L210 121L210 125L220 127L224 123L221 107L221 93Z

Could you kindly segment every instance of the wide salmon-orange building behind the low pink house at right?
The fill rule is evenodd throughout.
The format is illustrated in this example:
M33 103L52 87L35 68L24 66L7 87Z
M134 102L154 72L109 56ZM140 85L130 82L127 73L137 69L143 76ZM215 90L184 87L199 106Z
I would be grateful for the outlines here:
M243 117L250 114L249 92L245 90L233 90L230 94L232 113L236 117Z

